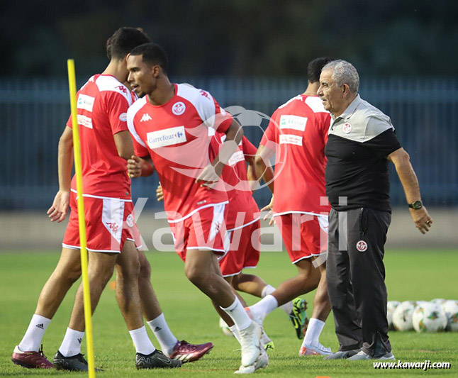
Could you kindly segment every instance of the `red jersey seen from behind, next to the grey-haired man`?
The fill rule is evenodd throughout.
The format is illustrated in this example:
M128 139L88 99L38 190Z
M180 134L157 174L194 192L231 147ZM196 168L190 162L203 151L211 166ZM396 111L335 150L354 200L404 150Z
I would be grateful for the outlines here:
M325 144L330 113L318 96L300 94L272 115L261 145L275 151L274 213L328 213Z

